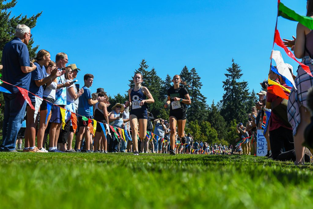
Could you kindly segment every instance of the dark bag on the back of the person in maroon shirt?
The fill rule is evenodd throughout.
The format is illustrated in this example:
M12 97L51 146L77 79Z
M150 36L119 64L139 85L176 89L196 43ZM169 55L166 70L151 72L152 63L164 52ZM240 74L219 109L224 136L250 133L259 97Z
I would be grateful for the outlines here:
M291 128L291 125L288 122L287 104L288 104L287 99L278 98L271 103L271 107L274 114L280 118L284 125Z

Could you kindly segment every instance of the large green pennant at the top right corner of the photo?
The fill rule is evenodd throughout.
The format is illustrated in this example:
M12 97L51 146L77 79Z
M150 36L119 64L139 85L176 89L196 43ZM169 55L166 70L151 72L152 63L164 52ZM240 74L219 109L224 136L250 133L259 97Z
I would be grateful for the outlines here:
M304 25L305 27L313 30L313 18L297 14L295 13L295 11L286 7L283 3L279 4L278 16L281 16L283 18L286 18L292 21L297 21L301 23L302 25Z

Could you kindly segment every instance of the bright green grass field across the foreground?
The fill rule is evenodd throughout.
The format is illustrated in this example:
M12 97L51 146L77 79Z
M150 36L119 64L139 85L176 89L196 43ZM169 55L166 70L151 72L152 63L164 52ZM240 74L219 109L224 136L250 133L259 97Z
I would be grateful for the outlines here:
M0 153L1 208L309 208L312 165L254 156Z

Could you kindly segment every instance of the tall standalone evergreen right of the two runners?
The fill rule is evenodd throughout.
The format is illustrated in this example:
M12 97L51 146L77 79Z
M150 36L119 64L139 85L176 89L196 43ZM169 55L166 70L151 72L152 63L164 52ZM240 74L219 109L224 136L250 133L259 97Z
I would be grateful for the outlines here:
M247 118L247 106L249 102L248 82L239 81L241 76L240 66L232 60L232 66L226 69L226 80L223 81L224 95L221 115L227 123L233 119L237 122L244 122Z

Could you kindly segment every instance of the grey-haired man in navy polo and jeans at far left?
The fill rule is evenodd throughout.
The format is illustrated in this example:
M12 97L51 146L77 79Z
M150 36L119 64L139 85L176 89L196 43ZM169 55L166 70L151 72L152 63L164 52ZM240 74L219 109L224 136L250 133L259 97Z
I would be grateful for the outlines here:
M29 61L27 45L32 34L26 25L18 25L13 40L5 44L2 54L2 80L15 86L29 90L29 83L36 65ZM18 88L3 83L2 86L12 94L3 93L5 107L3 120L3 143L0 151L16 152L17 133L24 120L26 101Z

